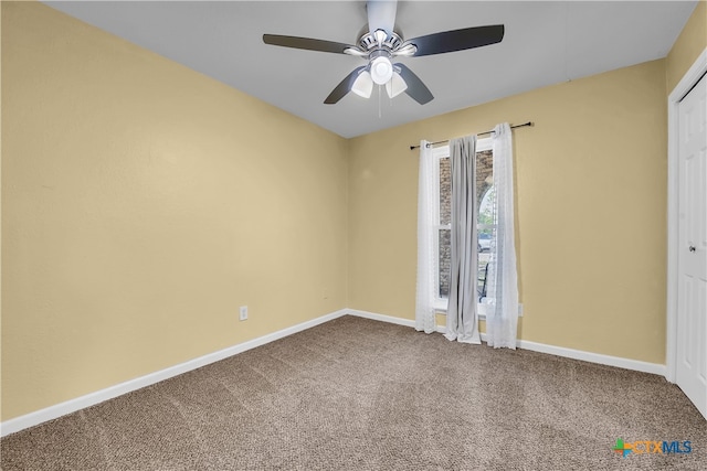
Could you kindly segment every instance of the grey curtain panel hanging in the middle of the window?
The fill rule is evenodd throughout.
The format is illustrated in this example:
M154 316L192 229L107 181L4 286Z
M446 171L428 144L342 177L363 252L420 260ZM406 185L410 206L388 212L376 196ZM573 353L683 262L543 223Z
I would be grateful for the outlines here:
M450 141L452 169L452 267L446 310L449 340L482 343L476 310L476 136Z

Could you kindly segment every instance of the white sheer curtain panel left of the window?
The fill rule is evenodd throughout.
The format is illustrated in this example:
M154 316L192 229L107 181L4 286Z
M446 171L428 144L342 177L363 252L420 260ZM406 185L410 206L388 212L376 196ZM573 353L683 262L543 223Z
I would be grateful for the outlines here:
M434 158L428 141L420 141L418 185L418 288L415 295L415 329L432 333L434 319Z

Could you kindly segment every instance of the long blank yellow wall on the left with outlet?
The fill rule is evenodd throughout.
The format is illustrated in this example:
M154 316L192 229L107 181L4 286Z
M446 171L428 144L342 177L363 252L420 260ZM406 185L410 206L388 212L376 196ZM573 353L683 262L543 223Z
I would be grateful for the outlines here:
M2 420L346 306L345 139L40 3L2 39Z

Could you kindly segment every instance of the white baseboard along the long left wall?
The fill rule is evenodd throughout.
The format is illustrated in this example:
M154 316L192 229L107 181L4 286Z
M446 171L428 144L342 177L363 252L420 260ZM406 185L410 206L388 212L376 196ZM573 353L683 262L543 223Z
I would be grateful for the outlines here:
M228 349L220 350L218 352L209 353L188 362L170 366L165 370L160 370L155 373L147 374L145 376L137 377L135 379L126 381L125 383L116 384L115 386L107 387L105 389L97 390L95 393L86 394L85 396L76 397L75 399L66 400L65 403L56 404L54 406L46 407L44 409L36 410L34 413L27 414L10 420L6 420L0 424L0 437L4 437L10 433L23 430L35 425L40 425L48 420L53 420L66 414L75 413L76 410L94 406L123 394L130 393L141 387L150 386L160 381L168 379L170 377L190 372L192 370L200 368L210 363L218 362L229 356L233 356L246 350L255 349L256 346L264 345L275 340L292 335L307 329L310 329L320 323L339 318L347 313L346 309L331 312L317 319L313 319L307 322L293 325L287 329L279 330L277 332L270 333L267 335L260 336L257 339L250 340L247 342L239 343L238 345L230 346Z

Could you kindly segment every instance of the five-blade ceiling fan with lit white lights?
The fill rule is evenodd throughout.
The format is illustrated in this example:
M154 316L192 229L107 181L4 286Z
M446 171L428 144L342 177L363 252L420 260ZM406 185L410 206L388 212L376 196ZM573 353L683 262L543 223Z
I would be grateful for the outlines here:
M263 34L263 42L277 46L348 54L367 60L367 65L355 68L334 88L324 100L327 105L334 105L349 92L369 98L373 84L384 85L391 98L404 92L420 105L424 105L434 96L420 77L404 64L393 64L395 57L420 57L464 51L499 43L504 38L504 25L495 24L444 31L405 41L401 34L393 31L397 8L397 0L368 1L368 32L359 39L357 45L277 34Z

